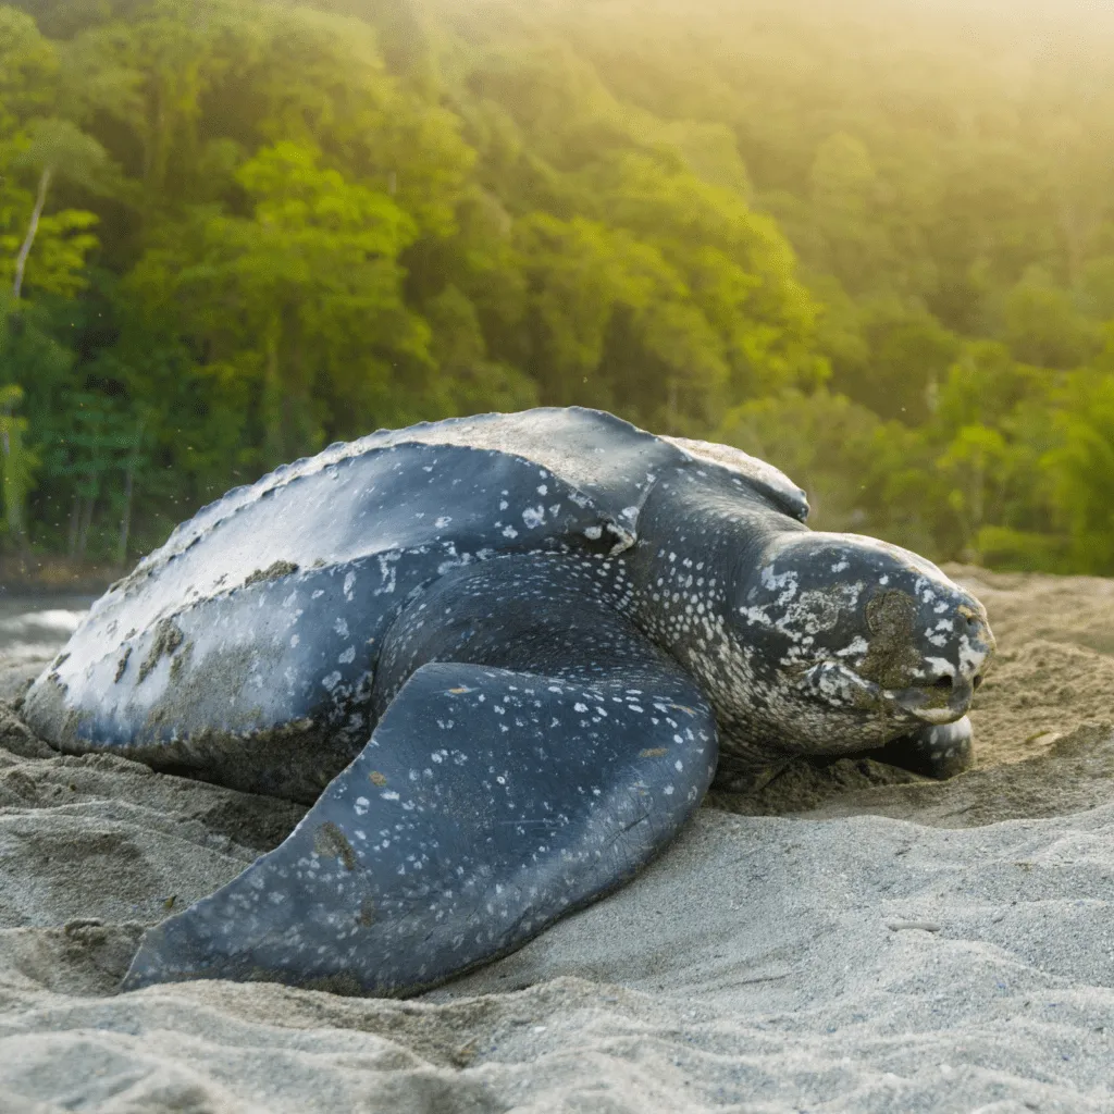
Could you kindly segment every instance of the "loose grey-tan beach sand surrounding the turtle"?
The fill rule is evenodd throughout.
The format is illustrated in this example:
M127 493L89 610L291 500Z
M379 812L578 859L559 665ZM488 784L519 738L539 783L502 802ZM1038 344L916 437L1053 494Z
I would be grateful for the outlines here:
M116 994L143 927L301 809L60 758L0 706L0 1112L1114 1111L1114 583L951 571L1001 647L975 770L720 794L632 886L410 1001Z

